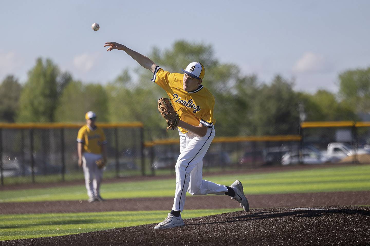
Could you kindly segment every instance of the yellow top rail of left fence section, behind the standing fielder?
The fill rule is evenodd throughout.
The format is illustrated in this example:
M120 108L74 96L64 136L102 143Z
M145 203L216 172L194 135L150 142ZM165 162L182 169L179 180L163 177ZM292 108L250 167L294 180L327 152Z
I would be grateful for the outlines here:
M55 129L55 128L80 128L83 123L0 123L0 128L4 129ZM141 122L130 122L130 123L97 123L98 127L102 128L142 128Z

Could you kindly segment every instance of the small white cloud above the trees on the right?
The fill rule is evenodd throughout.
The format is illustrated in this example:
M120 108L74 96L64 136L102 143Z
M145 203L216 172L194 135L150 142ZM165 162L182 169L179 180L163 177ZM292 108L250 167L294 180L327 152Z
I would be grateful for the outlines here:
M327 69L328 66L324 60L324 56L312 52L304 53L293 66L293 72L296 73L324 72Z

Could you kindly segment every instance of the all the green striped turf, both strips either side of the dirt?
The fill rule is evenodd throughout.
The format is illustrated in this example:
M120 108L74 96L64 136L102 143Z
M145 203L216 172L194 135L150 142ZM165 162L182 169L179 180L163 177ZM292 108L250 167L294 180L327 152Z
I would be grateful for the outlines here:
M279 173L205 176L220 184L242 181L246 194L369 191L370 165L315 168ZM81 182L82 183L82 182ZM172 197L174 179L102 184L104 198ZM43 189L0 191L0 202L86 200L83 184ZM239 209L186 210L183 218L238 211ZM70 214L0 215L0 240L57 236L150 224L168 211L124 211Z

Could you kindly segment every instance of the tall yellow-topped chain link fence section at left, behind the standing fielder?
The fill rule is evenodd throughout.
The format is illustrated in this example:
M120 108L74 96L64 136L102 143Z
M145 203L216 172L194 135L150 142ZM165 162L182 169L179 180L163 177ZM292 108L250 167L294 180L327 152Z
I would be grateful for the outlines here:
M82 179L76 141L81 126L1 125L1 184ZM145 175L142 124L98 126L103 128L108 141L105 177Z

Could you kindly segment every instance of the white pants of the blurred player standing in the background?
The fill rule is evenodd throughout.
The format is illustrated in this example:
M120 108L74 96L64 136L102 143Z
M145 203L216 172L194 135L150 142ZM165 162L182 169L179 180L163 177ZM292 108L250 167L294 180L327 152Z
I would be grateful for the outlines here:
M100 195L100 183L103 177L103 169L98 169L95 161L102 158L102 155L84 152L82 155L85 185L87 195L96 197Z

